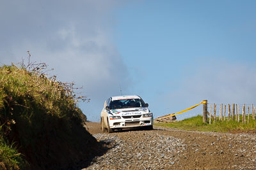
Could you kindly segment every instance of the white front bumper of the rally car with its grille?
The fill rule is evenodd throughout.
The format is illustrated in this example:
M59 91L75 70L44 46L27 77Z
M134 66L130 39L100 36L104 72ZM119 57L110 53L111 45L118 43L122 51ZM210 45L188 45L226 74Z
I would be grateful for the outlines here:
M120 119L109 120L110 128L131 128L153 125L153 117L138 117L139 115L121 116Z

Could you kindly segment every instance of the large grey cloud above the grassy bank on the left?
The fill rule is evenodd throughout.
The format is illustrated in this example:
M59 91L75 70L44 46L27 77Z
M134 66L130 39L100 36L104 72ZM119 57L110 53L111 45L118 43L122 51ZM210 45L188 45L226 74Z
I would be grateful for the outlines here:
M104 99L129 86L122 57L112 42L118 1L4 1L0 6L0 63L31 59L54 67L61 81L76 81L99 114ZM97 115L99 116L99 115ZM90 118L90 117L89 117Z

